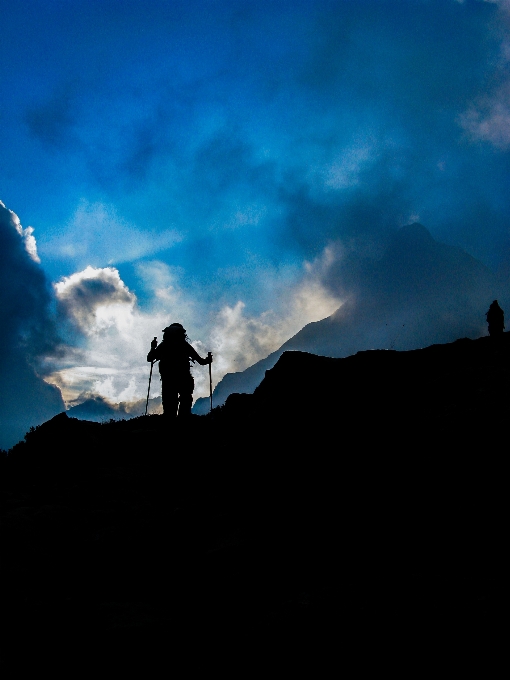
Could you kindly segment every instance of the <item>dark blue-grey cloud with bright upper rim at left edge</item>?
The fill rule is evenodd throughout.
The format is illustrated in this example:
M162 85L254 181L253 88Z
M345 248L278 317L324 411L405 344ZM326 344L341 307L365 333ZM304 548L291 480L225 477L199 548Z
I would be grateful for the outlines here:
M33 230L0 201L0 448L63 410L58 389L36 372L57 351L51 291Z

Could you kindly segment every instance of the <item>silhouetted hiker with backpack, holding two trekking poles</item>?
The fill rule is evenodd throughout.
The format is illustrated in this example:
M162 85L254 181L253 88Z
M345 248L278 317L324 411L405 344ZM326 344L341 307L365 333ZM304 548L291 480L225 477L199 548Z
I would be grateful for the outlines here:
M154 342L154 341L153 341ZM151 346L147 361L159 360L161 376L161 398L165 416L175 418L177 407L179 417L191 414L195 382L190 373L190 361L205 366L212 362L212 354L202 359L189 344L185 329L180 323L173 323L163 329L163 340L156 347Z

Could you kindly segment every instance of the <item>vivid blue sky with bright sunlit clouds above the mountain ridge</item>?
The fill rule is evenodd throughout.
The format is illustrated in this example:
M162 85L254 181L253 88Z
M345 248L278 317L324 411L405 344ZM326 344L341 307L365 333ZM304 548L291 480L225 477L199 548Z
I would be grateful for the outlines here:
M412 221L508 268L505 0L0 9L0 200L34 229L66 399L140 396L174 320L216 379L250 365L342 303L332 261Z

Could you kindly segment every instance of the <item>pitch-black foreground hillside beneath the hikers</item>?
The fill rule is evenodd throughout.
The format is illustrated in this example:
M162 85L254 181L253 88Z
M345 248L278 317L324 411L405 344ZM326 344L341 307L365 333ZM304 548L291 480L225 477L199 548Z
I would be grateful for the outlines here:
M509 358L506 333L286 352L187 423L31 430L2 459L4 667L486 667L507 606Z

